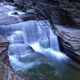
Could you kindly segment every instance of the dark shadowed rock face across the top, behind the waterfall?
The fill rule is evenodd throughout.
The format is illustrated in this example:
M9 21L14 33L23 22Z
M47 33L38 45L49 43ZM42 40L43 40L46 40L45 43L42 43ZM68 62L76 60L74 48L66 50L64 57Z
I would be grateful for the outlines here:
M34 15L41 15L52 24L80 26L79 0L15 0L14 3L26 10L33 9Z

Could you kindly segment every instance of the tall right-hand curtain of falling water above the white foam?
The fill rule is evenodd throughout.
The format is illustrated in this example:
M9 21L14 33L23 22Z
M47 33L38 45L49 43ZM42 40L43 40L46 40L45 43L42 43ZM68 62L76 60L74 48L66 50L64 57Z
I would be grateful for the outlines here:
M23 32L27 45L35 46L34 44L38 43L38 45L44 49L52 48L59 51L57 36L52 32L47 20L28 21L28 24L23 27Z

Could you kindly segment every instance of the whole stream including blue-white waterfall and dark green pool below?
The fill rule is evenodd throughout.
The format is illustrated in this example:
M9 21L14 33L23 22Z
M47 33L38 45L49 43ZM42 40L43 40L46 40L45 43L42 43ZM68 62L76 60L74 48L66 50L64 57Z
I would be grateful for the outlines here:
M5 8L10 7L3 8L6 11ZM18 15L12 14L15 13L13 9L11 7L6 14L19 19ZM5 11L0 9L0 13ZM80 70L70 64L71 59L65 53L60 52L57 36L48 20L21 22L19 19L19 22L0 26L0 35L10 42L8 55L16 72L30 80L80 80Z

